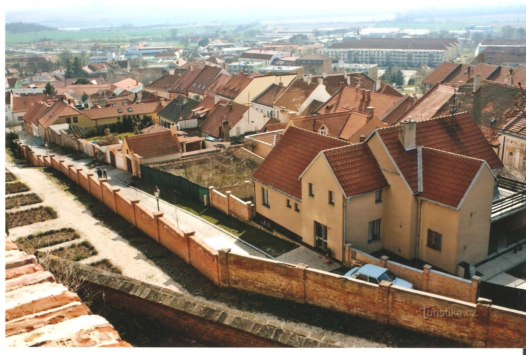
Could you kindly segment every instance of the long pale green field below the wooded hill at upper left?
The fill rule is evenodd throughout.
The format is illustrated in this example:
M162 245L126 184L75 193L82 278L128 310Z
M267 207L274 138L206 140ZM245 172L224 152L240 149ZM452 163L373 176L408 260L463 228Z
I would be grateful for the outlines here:
M232 30L234 26L221 27L221 30ZM187 27L179 28L179 35L191 34L196 32L215 31L218 28L205 28L205 27ZM169 36L170 31L167 28L161 29L126 29L126 30L114 30L114 31L103 31L103 30L78 30L78 31L41 31L41 32L24 32L24 33L6 33L5 43L16 44L16 43L33 43L40 38L52 38L55 41L98 41L98 40L113 40L113 41L125 41L129 43L137 38L155 37L155 36Z

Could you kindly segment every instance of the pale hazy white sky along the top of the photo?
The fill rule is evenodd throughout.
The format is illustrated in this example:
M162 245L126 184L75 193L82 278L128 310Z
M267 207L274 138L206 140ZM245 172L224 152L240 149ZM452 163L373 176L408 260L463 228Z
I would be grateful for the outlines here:
M440 0L429 2L428 6L422 1L329 1L296 0L284 2L268 2L261 0L179 0L154 2L145 0L126 0L112 2L108 0L88 0L86 2L48 2L43 0L5 1L4 9L6 21L37 22L42 24L65 24L68 27L86 27L122 24L184 24L203 22L251 22L253 20L285 20L292 18L358 18L369 15L383 19L383 14L406 12L421 12L423 16L439 12L445 7L451 8L451 16L460 14L480 14L484 8L500 9L508 5L523 7L524 0ZM440 4L440 5L437 5ZM459 4L464 8L460 11ZM426 12L426 7L429 10ZM490 14L492 12L489 12ZM365 20L365 19L364 19ZM90 22L94 22L90 24ZM97 23L95 23L97 22ZM310 22L310 20L309 20ZM76 25L75 25L76 24ZM60 27L60 26L59 26Z

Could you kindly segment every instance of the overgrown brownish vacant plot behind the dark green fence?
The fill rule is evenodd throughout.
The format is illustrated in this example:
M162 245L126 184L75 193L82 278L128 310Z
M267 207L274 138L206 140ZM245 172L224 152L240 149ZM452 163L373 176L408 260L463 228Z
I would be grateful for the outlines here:
M160 169L181 175L201 186L229 186L242 183L259 168L261 163L251 159L249 153L231 149L213 158L183 164L165 165ZM219 171L219 173L218 173Z

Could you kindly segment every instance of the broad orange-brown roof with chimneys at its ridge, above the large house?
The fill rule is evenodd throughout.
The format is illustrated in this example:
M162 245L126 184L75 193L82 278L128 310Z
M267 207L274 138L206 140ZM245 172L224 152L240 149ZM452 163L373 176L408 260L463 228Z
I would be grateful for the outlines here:
M372 106L375 108L375 116L381 117L391 107L395 106L400 97L385 95L376 91L371 91L369 101L365 100L365 89L343 87L335 93L327 102L316 111L317 113L341 112L346 110L355 110L366 112L366 108Z

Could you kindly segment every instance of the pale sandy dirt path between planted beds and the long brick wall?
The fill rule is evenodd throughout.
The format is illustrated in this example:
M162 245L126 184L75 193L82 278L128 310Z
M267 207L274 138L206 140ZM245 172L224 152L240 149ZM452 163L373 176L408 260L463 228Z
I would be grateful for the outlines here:
M18 237L24 237L32 233L71 227L80 235L80 239L77 239L75 242L86 239L95 246L98 252L96 256L84 259L81 263L89 264L96 260L108 258L115 266L122 269L125 276L188 294L183 287L175 283L154 262L148 260L146 256L133 246L130 246L117 233L102 225L84 205L75 200L73 195L62 190L59 185L51 181L40 169L18 168L7 161L6 166L20 181L29 186L31 192L41 197L44 201L41 203L42 205L53 207L58 214L58 218L54 220L9 229L9 239L14 241ZM23 206L16 210L25 210L34 206ZM65 243L64 245L71 243ZM49 249L55 249L59 246L62 246L62 244L55 245Z

